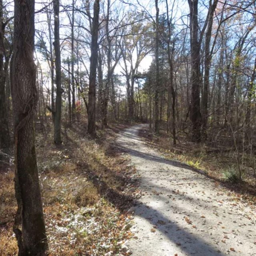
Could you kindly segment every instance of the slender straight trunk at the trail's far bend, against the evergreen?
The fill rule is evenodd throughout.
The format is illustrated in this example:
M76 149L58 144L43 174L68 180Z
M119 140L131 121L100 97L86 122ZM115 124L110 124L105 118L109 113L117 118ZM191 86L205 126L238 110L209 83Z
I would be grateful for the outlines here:
M158 0L155 0L156 7L156 87L155 87L155 132L159 133L159 8Z

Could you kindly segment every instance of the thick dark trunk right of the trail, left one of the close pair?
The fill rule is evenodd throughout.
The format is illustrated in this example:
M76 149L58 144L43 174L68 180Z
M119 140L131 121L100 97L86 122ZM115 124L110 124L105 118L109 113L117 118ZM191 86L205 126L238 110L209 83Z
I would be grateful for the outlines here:
M200 112L200 43L198 40L198 0L188 0L190 7L190 47L192 62L192 98L190 105L190 119L192 122L192 140L201 140L201 112Z

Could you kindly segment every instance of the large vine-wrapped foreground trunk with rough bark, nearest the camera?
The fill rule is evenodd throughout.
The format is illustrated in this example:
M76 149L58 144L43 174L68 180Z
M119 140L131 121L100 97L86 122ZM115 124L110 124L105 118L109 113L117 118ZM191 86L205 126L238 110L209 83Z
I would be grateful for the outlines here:
M13 230L18 241L19 256L45 255L48 248L33 123L37 102L36 65L33 56L34 4L34 0L14 1L14 49L10 73L18 210Z

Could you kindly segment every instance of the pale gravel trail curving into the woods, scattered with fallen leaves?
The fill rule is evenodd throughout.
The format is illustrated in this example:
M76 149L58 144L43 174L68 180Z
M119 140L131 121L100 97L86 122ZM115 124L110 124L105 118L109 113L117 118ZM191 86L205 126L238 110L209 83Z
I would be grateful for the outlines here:
M256 256L256 207L235 200L214 180L150 149L133 126L118 137L141 176L126 244L134 256Z

